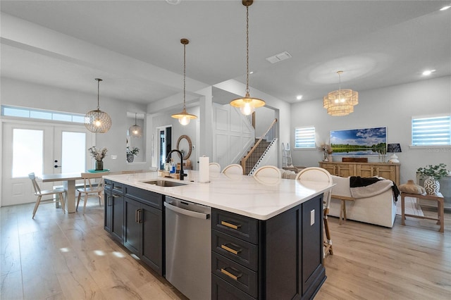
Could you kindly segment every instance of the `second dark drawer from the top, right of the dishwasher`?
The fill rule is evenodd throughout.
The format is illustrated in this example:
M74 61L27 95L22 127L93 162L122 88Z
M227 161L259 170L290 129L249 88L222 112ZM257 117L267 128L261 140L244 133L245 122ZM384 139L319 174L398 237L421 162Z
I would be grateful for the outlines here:
M218 230L212 230L211 249L251 270L257 271L258 251L254 244L226 235Z

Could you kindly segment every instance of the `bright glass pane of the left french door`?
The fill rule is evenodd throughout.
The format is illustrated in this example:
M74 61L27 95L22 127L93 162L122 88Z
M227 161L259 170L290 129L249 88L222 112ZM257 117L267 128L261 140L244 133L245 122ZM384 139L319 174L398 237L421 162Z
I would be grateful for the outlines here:
M42 174L43 144L42 130L13 130L13 178L27 177L32 172Z

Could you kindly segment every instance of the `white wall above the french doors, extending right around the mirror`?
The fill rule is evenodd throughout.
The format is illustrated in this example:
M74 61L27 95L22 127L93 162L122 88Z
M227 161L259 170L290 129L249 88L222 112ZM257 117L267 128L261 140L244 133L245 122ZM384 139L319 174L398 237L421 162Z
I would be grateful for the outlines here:
M85 94L2 77L1 104L85 114L97 108L97 84L94 77L92 77L92 85L95 94ZM148 169L150 163L127 163L125 160L125 143L127 130L130 127L127 111L142 112L145 111L146 106L108 99L101 96L100 92L100 109L108 113L112 120L109 132L97 134L96 137L95 146L108 149L108 155L104 158L104 168L109 168L111 171ZM117 155L118 158L112 160L111 155ZM140 152L140 155L146 156L144 151Z

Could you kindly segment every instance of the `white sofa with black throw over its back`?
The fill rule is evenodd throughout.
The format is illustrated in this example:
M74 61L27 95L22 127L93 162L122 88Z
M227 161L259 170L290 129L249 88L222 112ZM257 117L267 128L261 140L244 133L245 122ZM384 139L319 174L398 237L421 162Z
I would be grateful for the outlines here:
M332 188L329 215L340 217L341 201L334 199L333 195L352 197L350 177L338 177L335 175L332 175L332 177L335 186ZM396 202L393 196L393 189L386 189L376 196L345 202L347 220L356 220L390 228L393 227L396 216Z

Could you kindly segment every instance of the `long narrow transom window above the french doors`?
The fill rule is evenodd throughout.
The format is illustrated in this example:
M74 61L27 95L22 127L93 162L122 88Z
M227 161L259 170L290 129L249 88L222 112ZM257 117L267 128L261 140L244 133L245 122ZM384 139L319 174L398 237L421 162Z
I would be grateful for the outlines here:
M85 115L78 113L62 113L61 111L44 111L35 108L17 106L1 106L1 115L41 120L65 121L71 123L85 123Z

